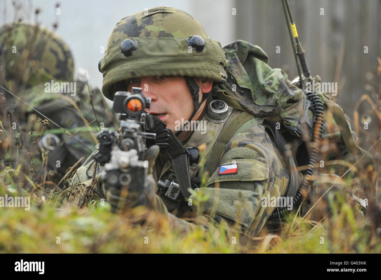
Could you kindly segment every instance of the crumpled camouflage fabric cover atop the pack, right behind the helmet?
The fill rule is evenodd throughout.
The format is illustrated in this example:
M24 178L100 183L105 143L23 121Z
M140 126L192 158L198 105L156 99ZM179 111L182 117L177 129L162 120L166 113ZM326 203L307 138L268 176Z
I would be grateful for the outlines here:
M259 47L237 40L224 46L228 65L227 83L219 97L229 101L230 96L241 108L259 118L281 112L287 103L303 99L303 91L287 86L287 74L282 69L267 65L267 54Z

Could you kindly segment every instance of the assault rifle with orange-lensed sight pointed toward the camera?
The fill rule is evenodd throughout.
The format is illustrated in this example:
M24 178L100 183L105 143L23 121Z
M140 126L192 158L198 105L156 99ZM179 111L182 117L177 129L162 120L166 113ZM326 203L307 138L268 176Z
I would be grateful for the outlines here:
M120 113L120 133L107 129L99 132L99 151L93 156L104 165L101 178L108 187L123 189L131 182L144 186L148 169L144 161L146 139L156 138L155 133L144 132L154 126L152 115L144 112L150 104L151 99L142 94L142 88L115 93L112 109Z

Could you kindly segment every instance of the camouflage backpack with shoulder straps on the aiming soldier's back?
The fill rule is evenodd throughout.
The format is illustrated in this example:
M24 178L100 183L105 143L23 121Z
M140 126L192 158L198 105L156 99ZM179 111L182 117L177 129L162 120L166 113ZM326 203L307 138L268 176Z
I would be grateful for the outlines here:
M343 109L331 101L327 94L318 91L308 93L291 84L283 70L272 69L267 65L267 54L258 46L237 40L224 46L223 50L229 62L226 68L227 79L226 83L214 86L212 94L229 106L246 112L245 115L240 115L241 120L235 122L235 127L240 127L254 116L274 138L283 160L289 166L287 196L294 199L298 196L296 166L309 165L309 169L302 171L302 174L312 175L318 153L317 150L311 150L312 145L309 143L314 133L317 111L323 111L326 120L323 121L320 135L324 134L325 139L333 139L338 146L338 151L329 155L329 160L344 159L355 163L357 158L365 154L364 150L355 146L354 133ZM314 79L315 82L320 82L319 76ZM320 102L318 107L315 106L315 101ZM219 164L224 145L236 130L227 129L224 135L219 136L207 169L210 174ZM292 157L288 156L289 151ZM371 163L371 157L363 158L363 166ZM343 166L339 169L335 174L344 174L346 169ZM332 170L320 172L333 173ZM308 183L302 181L305 188Z

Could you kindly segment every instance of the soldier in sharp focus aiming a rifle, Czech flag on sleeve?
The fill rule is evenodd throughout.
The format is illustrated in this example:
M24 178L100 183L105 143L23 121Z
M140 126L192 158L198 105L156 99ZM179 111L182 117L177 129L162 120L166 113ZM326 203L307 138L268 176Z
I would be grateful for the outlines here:
M308 164L301 132L313 129L313 110L303 91L266 62L263 50L247 42L236 41L223 50L181 10L157 7L123 18L99 62L102 92L112 100L117 91L141 87L152 100L147 112L159 119L153 131L161 150L149 147L146 159L152 175L127 197L99 176L94 180L92 171L102 167L88 158L71 182L72 187L85 187L69 200L83 205L96 187L96 194L106 194L112 211L146 205L184 230L237 222L243 232L258 235L277 208L264 205L263 198L296 197L302 173L293 167ZM326 109L330 101L319 96ZM298 107L286 110L289 103ZM305 122L298 122L301 119ZM175 139L171 133L160 138L165 131L160 121ZM291 139L290 149L271 125L277 122L283 136ZM205 186L202 170L210 175ZM130 188L139 189L133 183ZM200 192L209 198L195 207L192 202ZM181 219L189 217L194 221Z

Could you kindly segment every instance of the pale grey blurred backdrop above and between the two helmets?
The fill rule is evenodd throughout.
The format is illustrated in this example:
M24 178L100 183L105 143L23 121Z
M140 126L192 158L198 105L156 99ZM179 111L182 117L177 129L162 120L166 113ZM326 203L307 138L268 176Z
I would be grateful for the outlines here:
M56 3L59 2L60 15L56 15ZM0 0L0 22L11 22L15 9L11 0ZM231 15L232 0L219 1L216 10L215 1L211 0L16 0L20 5L16 20L23 18L26 22L34 22L36 8L41 10L38 22L52 29L53 22L58 22L56 33L70 47L74 55L75 75L78 69L85 69L90 76L91 85L101 88L102 74L98 71L98 61L102 58L101 46L106 49L109 35L115 24L125 16L155 6L171 6L187 11L200 21L208 36L226 45L234 39L232 17L222 20L223 14ZM221 28L222 27L222 28Z

